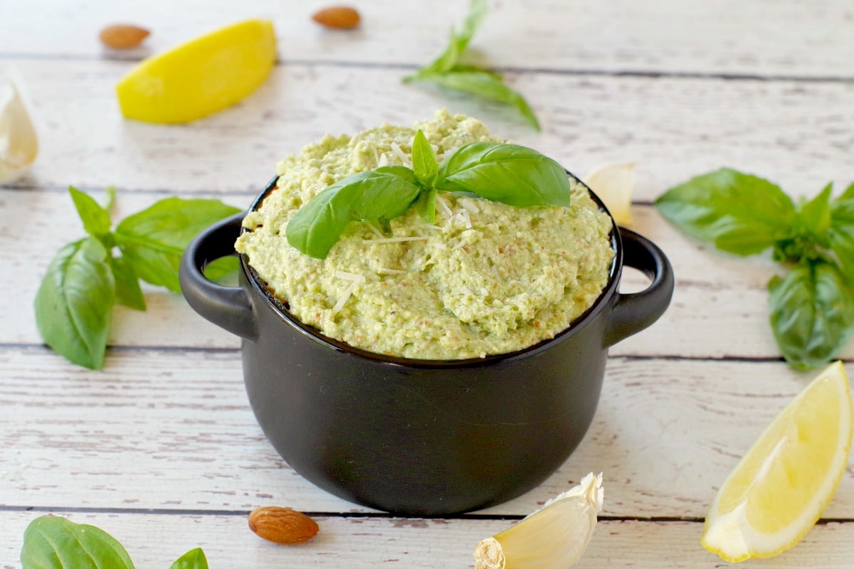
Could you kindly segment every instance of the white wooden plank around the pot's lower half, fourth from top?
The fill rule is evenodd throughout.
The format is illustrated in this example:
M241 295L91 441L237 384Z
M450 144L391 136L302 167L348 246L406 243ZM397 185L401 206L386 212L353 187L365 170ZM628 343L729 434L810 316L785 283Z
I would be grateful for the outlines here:
M487 512L529 514L595 471L605 474L606 515L700 518L811 376L782 363L612 357L576 452L540 487ZM38 348L0 351L0 505L364 511L276 455L241 377L233 352L116 351L99 373ZM826 515L854 519L851 467Z

